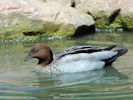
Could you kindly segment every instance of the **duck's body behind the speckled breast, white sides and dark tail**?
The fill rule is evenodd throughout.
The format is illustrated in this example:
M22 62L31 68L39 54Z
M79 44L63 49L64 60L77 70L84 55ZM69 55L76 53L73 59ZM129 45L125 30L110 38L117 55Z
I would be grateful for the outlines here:
M92 52L95 50L97 51ZM69 52L62 57L59 57L59 69L61 70L61 72L82 72L101 69L112 64L113 61L115 61L119 56L125 54L127 52L127 49L119 49L115 51L108 49L90 49L90 51L91 53Z

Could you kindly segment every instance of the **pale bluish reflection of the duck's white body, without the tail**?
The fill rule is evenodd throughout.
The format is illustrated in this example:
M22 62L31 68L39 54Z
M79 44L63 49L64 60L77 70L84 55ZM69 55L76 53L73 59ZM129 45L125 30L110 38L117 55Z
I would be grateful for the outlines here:
M54 80L54 87L64 87L64 86L72 86L72 85L78 85L78 84L85 84L90 83L95 80L99 80L102 75L105 73L104 70L98 70L98 71L91 71L91 72L82 72L82 73L66 73L66 74L39 74L38 79L40 81L46 80L51 78ZM51 86L53 86L51 85Z

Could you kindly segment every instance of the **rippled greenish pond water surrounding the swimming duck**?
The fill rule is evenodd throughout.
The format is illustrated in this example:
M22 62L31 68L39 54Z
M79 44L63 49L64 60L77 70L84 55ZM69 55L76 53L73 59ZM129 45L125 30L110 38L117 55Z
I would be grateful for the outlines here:
M0 100L133 100L133 35L103 34L77 40L42 41L54 52L86 44L117 44L129 49L112 67L73 74L36 73L36 59L24 62L34 43L1 44Z

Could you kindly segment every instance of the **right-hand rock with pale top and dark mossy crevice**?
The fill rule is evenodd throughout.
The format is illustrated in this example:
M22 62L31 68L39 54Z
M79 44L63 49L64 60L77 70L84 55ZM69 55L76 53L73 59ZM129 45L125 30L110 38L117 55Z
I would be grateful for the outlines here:
M76 9L88 13L96 20L97 28L123 28L133 31L132 0L75 0ZM121 9L118 14L114 14ZM117 15L117 16L115 16Z

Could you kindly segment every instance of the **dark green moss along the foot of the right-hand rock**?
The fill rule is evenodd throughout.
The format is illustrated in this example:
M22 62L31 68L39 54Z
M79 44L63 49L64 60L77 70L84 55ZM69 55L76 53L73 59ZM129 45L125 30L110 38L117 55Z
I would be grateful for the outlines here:
M130 31L133 30L133 18L132 16L122 16L119 14L113 23L110 25L109 22L109 16L105 15L104 13L97 14L98 18L95 22L96 28L102 28L102 29L117 29L122 27L123 29L129 29Z

